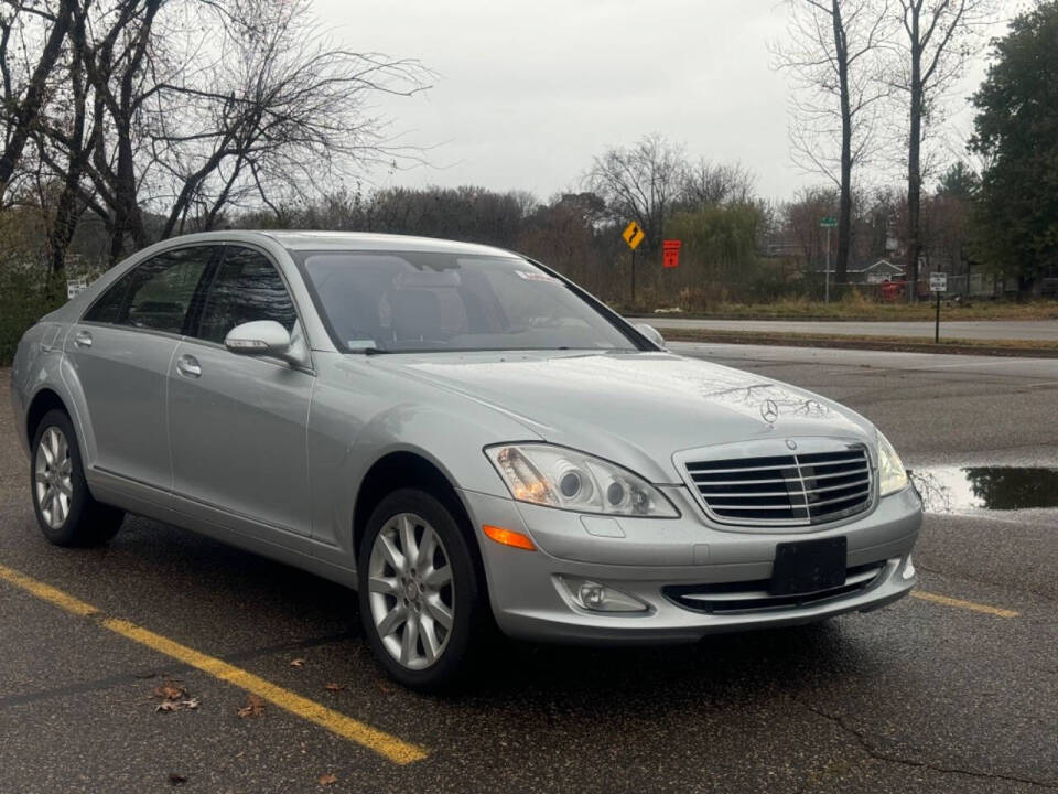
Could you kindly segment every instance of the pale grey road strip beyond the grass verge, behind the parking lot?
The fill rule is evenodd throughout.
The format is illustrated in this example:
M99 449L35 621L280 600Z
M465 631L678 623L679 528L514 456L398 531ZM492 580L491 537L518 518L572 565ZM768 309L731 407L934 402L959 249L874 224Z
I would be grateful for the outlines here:
M854 336L933 337L932 321L856 322L825 320L692 320L655 314L629 318L659 329L703 329L769 333L849 334ZM953 320L941 313L941 339L1036 340L1058 344L1058 320Z

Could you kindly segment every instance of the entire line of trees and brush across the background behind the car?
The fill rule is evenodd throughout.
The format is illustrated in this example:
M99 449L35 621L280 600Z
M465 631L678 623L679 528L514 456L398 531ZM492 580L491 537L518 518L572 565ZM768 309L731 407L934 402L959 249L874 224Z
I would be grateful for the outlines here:
M790 139L827 179L766 201L741 163L662 135L602 151L547 200L477 186L358 181L423 153L387 137L380 93L411 95L413 60L335 46L309 0L0 0L0 360L63 299L69 275L156 239L224 227L454 237L526 253L640 309L819 294L822 216L839 217L835 282L879 258L1016 279L1058 267L1058 0L993 43L967 159L930 136L980 46L987 0L788 0L777 66L795 76ZM972 160L970 158L973 158ZM865 183L903 162L900 187ZM973 162L975 165L971 165ZM928 179L927 179L928 178ZM660 268L666 237L680 268ZM4 342L8 340L8 342Z

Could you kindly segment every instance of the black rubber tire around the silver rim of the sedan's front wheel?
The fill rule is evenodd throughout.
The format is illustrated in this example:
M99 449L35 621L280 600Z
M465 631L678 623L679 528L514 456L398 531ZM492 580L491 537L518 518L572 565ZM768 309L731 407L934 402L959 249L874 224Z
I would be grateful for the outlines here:
M371 611L368 581L373 548L382 529L401 514L412 514L429 523L430 528L443 544L442 552L446 556L451 568L451 590L447 592L452 605L452 625L445 634L446 641L435 661L421 669L404 666L387 650ZM419 529L425 532L422 526L419 526L415 532ZM399 577L397 579L399 580ZM487 594L484 583L479 580L466 537L460 530L456 518L441 501L415 489L401 489L386 496L367 522L357 560L357 584L364 635L375 658L390 677L412 689L438 691L453 686L469 670L477 650L482 647L483 641L488 635L490 614ZM420 594L423 599L428 598L425 590ZM387 603L390 599L395 604L401 599L407 603L403 594L386 594L385 599ZM412 608L409 603L409 609ZM414 609L425 611L421 605ZM408 631L407 624L403 631ZM417 635L419 631L417 629ZM422 629L422 631L425 630ZM419 643L419 647L424 650L424 640L420 639Z

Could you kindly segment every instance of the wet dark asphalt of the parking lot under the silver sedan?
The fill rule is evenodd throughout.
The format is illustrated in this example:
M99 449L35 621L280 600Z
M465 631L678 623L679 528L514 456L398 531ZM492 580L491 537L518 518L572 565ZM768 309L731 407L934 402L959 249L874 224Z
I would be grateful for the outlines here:
M1055 361L673 347L841 399L911 466L1058 465ZM34 582L0 577L4 794L1058 788L1054 511L927 516L920 590L879 612L693 646L505 645L424 697L377 670L350 594L306 573L141 518L105 549L48 546L12 434L0 400L0 566ZM240 717L239 680L115 616L425 757L395 763L272 702ZM155 711L166 682L197 707Z

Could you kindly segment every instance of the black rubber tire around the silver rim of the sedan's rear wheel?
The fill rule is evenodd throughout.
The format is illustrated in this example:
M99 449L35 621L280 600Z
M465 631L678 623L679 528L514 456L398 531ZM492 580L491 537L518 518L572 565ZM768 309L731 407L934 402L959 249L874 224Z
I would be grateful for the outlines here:
M40 452L41 443L52 429L62 434L71 463L68 473L69 493L66 495L66 502L64 503L67 507L61 522L53 521L53 518L57 518L53 515L54 507L46 504L42 505L41 489L37 482L37 459L39 454L42 454ZM55 437L48 434L48 439L52 438ZM55 485L55 487L58 486ZM65 491L63 493L65 494ZM33 502L33 512L36 514L36 522L41 532L56 546L89 547L105 544L118 533L118 529L121 528L121 521L125 518L122 511L97 502L88 491L74 423L69 420L66 411L57 408L44 415L33 433L33 443L30 447L30 498Z

